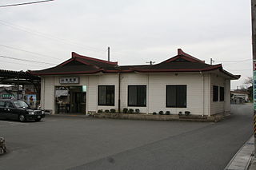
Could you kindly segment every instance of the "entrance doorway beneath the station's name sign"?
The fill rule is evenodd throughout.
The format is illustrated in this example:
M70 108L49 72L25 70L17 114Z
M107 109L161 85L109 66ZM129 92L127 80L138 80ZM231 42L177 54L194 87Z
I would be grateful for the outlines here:
M56 113L86 113L86 85L55 88Z

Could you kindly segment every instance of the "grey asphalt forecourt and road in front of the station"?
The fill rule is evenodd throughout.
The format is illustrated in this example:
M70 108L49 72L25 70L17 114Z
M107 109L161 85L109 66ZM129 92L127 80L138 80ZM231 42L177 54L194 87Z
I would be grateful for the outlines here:
M0 121L0 169L223 169L252 135L252 105L218 123L46 117Z

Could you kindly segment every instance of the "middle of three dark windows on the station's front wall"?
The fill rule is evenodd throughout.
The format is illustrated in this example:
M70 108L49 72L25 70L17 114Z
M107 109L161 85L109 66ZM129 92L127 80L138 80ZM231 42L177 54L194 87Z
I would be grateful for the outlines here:
M146 107L146 85L128 85L128 106Z

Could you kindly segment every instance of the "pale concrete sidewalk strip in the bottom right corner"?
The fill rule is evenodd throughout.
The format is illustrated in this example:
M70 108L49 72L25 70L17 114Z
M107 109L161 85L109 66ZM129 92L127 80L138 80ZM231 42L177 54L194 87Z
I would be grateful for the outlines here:
M233 156L224 170L247 170L254 152L254 136L251 136L242 148Z

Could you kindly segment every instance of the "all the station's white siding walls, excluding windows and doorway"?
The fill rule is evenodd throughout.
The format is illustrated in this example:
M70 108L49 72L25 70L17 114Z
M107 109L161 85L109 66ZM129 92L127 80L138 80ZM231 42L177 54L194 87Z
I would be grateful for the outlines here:
M42 108L54 109L55 86L59 86L60 77L69 76L46 76L42 77ZM101 75L74 75L79 77L78 85L87 85L86 112L98 111L98 109L118 110L118 73ZM120 105L123 108L140 109L141 113L158 113L159 111L170 111L178 114L190 111L194 115L210 115L223 113L230 110L229 90L230 81L224 80L210 73L121 73ZM98 105L98 85L114 85L114 106ZM128 85L146 85L147 100L146 107L128 107ZM187 97L186 108L166 108L166 85L186 85ZM224 101L212 101L213 85L225 87L226 99ZM70 85L66 85L70 86Z

